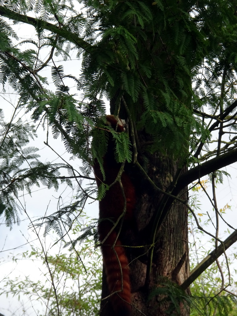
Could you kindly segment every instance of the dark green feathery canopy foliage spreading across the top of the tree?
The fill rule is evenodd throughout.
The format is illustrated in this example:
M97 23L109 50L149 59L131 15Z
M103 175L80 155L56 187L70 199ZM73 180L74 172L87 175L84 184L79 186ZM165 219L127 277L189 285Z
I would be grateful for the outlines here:
M145 129L153 139L146 150L163 151L186 163L190 148L210 141L206 123L193 115L193 109L210 106L214 113L220 99L228 106L234 98L234 4L83 1L87 17L77 13L72 2L19 1L17 5L18 9L10 2L7 5L16 10L12 13L16 20L18 13L30 10L40 19L36 26L39 43L22 41L14 46L12 38L17 35L1 20L0 80L20 92L22 104L35 108L34 120L49 119L54 136L62 135L67 150L83 159L87 172L92 161L88 137L97 117L104 114L101 97L112 100L118 91L137 128ZM53 27L57 23L63 24L62 31ZM26 43L32 48L21 51ZM51 66L55 94L46 90L46 79L38 74L52 56L43 62L37 49L47 46L64 60L71 49L78 50L77 56L83 52L80 78L64 74L60 64ZM216 93L222 87L223 72L230 98ZM89 103L70 95L66 78L76 82Z

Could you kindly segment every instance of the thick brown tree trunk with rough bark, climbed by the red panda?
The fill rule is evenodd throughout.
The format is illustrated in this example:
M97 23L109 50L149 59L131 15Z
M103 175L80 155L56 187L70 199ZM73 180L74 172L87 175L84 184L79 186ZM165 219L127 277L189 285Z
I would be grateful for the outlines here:
M155 185L166 190L178 169L178 162L159 153L147 156L144 161L146 161L146 166L143 164L143 168ZM132 229L138 232L135 232L135 237L131 237L132 233L128 232L123 239L126 245L143 246L126 248L129 261L131 261L132 316L167 316L169 313L188 316L189 307L181 302L181 298L177 297L173 287L175 283L182 284L189 276L187 208L178 201L174 201L172 204L165 221L156 233L149 282L146 282L148 251L152 237L150 236L151 227L163 194L154 195L147 191L144 187L144 179L136 179L135 182L138 184L136 186L137 207L134 218L135 228ZM187 200L186 190L179 197ZM128 239L130 239L129 242ZM144 252L146 254L141 256ZM103 271L102 298L108 295ZM173 298L171 298L172 295ZM172 304L175 300L177 301L176 306ZM102 299L100 315L113 314L109 300Z

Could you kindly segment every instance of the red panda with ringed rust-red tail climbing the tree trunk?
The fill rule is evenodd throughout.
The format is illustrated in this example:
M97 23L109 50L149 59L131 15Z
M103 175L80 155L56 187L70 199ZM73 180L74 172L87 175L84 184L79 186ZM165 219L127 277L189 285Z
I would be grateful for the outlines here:
M118 132L124 131L124 124L113 115L106 115L106 125L112 126ZM108 133L110 133L108 131ZM105 171L105 183L111 185L116 179L121 163L117 163L114 158L114 142L111 133L109 134L108 147L103 157L103 167ZM100 166L97 161L94 163L94 174L96 183L99 186L103 181ZM121 223L112 230L114 223L124 210L124 198L121 187L118 182L110 187L105 197L99 202L98 224L99 240L102 242L106 236L107 239L101 245L103 264L106 272L106 281L109 290L109 300L111 301L115 315L131 315L131 284L129 276L129 261L126 256L125 247L123 247L122 235L123 228L131 225L133 210L135 208L135 189L130 177L125 171L122 173L121 182L126 197L126 213L123 218L122 228L118 235ZM121 275L122 271L122 275ZM116 293L114 293L116 292Z

